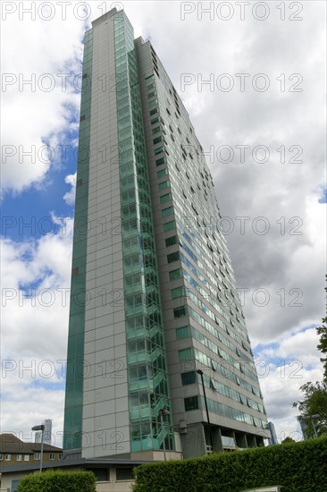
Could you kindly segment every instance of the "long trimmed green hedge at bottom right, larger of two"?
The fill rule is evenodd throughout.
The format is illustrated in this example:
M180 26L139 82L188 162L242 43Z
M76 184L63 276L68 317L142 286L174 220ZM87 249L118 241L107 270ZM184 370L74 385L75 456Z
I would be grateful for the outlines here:
M281 485L282 492L327 491L327 437L203 458L143 464L134 492L240 492Z

